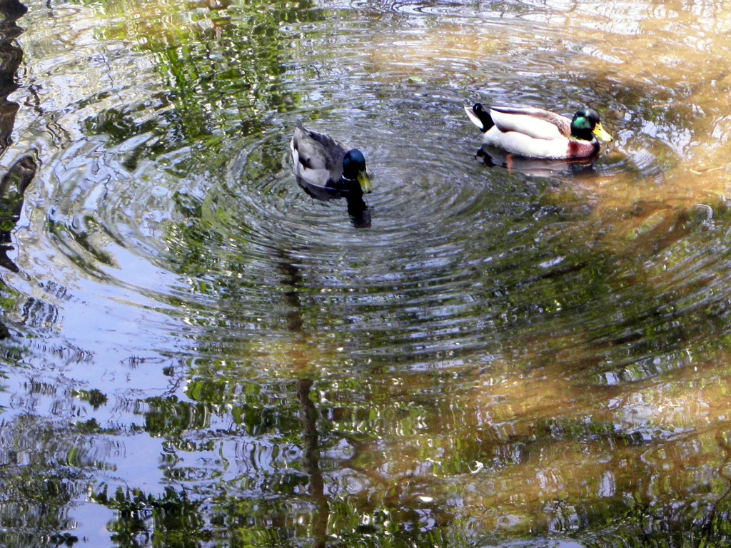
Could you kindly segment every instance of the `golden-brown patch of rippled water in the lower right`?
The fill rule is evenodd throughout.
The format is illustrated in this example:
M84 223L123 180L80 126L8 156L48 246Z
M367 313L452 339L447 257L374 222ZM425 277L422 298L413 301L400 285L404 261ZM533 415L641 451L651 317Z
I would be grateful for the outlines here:
M731 488L730 366L719 354L610 386L567 374L560 361L523 374L460 373L469 392L447 389L433 411L412 401L412 421L399 421L412 428L390 431L357 460L369 463L371 498L437 500L440 512L485 530L570 530L607 504L657 517L674 505L672 519L692 522L695 504L713 508ZM398 493L385 487L393 484Z

